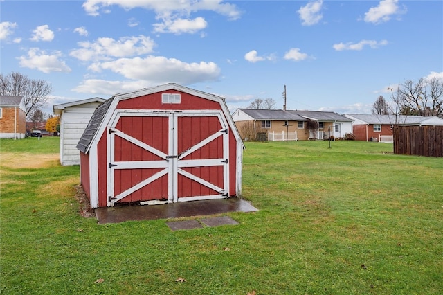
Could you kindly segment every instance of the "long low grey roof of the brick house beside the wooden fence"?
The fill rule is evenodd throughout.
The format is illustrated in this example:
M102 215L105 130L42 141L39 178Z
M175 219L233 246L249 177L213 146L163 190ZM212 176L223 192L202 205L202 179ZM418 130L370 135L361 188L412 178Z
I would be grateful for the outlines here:
M392 124L401 124L401 125L429 125L426 123L433 122L436 125L442 125L443 119L430 116L395 116L395 115L374 115L374 114L346 114L348 118L355 118L356 120L361 120L366 124L381 124L381 125L392 125Z

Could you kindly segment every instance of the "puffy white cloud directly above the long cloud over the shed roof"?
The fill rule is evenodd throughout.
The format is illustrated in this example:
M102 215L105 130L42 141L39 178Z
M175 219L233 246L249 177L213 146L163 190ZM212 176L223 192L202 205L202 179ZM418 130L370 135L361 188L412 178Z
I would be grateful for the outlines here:
M118 40L102 37L95 42L79 42L82 47L71 51L69 55L82 61L109 60L110 57L129 57L152 53L155 46L150 37L122 37Z

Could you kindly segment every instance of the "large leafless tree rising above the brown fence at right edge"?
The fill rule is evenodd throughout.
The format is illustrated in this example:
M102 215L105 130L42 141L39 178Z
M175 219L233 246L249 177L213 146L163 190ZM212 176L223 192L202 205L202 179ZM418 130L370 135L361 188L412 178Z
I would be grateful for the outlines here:
M409 114L443 117L443 81L421 78L399 86L401 107Z

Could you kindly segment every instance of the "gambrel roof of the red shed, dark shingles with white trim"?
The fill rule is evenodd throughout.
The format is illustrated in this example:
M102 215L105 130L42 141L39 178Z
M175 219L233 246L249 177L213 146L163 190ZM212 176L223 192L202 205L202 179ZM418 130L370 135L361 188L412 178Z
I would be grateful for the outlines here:
M93 143L95 136L98 133L100 133L100 127L102 126L102 123L105 120L105 117L107 116L109 109L115 108L120 100L127 100L130 98L146 96L152 93L158 93L161 91L169 91L169 90L181 91L184 93L188 93L192 96L197 96L199 98L205 98L208 100L219 102L219 104L221 105L221 109L223 110L226 119L228 120L228 124L230 125L230 128L233 130L235 134L235 137L238 138L239 141L241 141L237 127L235 126L232 117L230 117L228 106L226 105L224 98L220 96L215 96L214 94L198 91L195 89L190 89L188 87L184 87L179 84L168 83L156 87L143 88L129 93L116 94L115 96L109 98L109 100L105 100L105 102L102 102L102 104L97 107L96 111L94 111L93 115L91 116L91 120L89 120L86 129L84 129L84 133L82 134L82 137L80 138L80 141L78 142L77 145L78 150L80 150L85 154L89 151L89 147L91 147L91 144Z

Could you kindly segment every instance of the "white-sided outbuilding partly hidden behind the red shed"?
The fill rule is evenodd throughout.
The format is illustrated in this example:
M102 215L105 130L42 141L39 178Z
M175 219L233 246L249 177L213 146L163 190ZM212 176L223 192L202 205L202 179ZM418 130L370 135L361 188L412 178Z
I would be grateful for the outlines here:
M100 102L66 107L60 119L60 163L62 166L80 164L77 144Z

